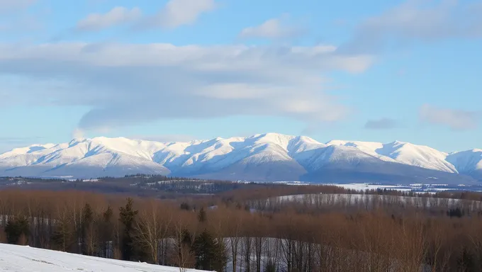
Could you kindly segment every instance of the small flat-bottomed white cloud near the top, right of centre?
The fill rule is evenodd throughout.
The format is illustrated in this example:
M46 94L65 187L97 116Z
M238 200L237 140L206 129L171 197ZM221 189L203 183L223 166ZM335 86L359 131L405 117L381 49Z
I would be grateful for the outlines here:
M251 26L241 30L240 38L292 38L303 33L301 28L287 26L284 18L272 18L259 26Z

